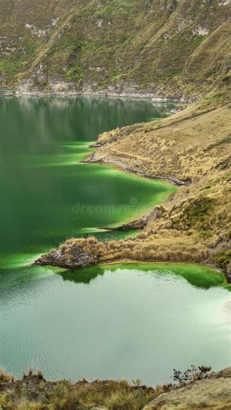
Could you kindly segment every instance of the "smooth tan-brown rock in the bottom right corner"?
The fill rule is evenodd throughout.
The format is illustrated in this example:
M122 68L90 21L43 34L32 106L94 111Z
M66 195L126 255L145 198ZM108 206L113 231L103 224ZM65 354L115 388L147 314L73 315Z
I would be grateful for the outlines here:
M231 409L231 367L209 380L194 383L160 394L143 410Z

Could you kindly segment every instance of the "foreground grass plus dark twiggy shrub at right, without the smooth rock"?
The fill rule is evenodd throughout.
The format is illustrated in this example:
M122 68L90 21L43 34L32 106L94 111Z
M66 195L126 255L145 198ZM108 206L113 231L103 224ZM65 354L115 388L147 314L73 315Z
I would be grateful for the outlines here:
M189 385L190 392L195 381L210 382L226 377L227 383L224 378L223 386L218 383L218 394L215 394L219 397L219 392L229 385L231 376L230 368L214 374L211 367L199 366L197 369L192 365L186 372L174 369L173 384L159 384L152 388L141 385L139 379L132 383L124 379L96 379L89 382L86 378L76 383L70 380L52 382L45 380L41 374L33 373L32 367L28 369L28 375L23 373L21 380L11 380L11 376L4 370L1 370L1 374L4 381L0 378L0 408L4 410L148 410L153 408L152 402L161 393L172 392L175 397L182 386L187 389ZM213 383L212 388L214 389ZM185 393L187 391L184 391L184 395ZM223 404L226 403L225 398L223 400ZM174 398L174 403L176 402L177 399Z

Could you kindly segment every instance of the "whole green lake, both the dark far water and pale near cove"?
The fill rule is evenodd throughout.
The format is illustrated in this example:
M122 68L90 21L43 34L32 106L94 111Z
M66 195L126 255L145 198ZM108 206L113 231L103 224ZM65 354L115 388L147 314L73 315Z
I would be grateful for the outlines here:
M79 162L100 132L172 108L93 97L0 98L0 365L47 378L170 380L174 368L229 363L230 294L196 265L31 266L69 236L106 232L175 187Z

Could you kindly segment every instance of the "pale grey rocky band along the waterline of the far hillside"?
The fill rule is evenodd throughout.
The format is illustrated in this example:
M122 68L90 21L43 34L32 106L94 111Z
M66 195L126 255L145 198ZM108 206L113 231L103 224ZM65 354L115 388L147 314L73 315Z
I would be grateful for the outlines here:
M39 80L38 80L39 78ZM46 88L42 87L42 81ZM81 87L74 81L66 81L57 75L47 78L42 69L30 73L28 78L21 79L15 87L17 95L90 95L97 97L145 98L156 103L192 104L204 94L199 91L186 91L184 88L171 87L166 89L162 83L148 83L142 87L140 83L117 81L107 86L84 79Z

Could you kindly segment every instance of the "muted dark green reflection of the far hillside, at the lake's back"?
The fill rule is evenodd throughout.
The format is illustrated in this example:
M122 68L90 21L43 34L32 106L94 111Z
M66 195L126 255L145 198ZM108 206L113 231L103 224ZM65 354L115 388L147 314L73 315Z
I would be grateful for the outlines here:
M95 141L98 134L117 126L165 117L172 107L137 99L90 96L1 98L1 131L8 135L6 153L8 143L17 154L38 154L43 148L48 153L49 143L54 141ZM4 139L0 143L4 153Z

